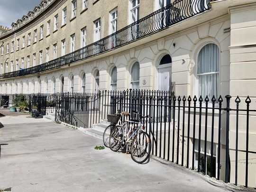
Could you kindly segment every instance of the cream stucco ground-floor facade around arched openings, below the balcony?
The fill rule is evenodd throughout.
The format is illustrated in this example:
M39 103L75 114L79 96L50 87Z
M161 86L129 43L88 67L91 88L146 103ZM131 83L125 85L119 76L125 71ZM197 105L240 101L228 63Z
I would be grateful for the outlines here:
M169 54L172 58L169 79L175 82L175 95L200 96L197 75L198 55L203 46L212 43L219 48L218 94L224 99L223 106L226 106L225 95L231 95L231 108L235 109L234 100L239 95L243 100L240 103L241 108L246 109L244 100L249 95L250 109L256 109L256 3L254 0L243 0L243 2L219 0L212 2L211 5L210 11L107 53L40 74L1 79L0 91L1 93L60 92L62 77L64 77L63 91L71 91L73 76L73 91L81 92L82 75L85 73L85 92L95 92L97 70L99 70L99 90L110 90L111 71L114 67L117 67L117 91L123 91L131 88L131 68L136 62L139 63L139 88L157 90L160 81L159 63L164 55ZM37 33L39 36L39 31ZM37 57L39 57L38 54ZM30 55L31 63L32 60L33 57ZM55 80L55 89L53 80ZM231 166L234 166L236 117L234 111L230 114L230 162ZM256 149L255 124L256 113L252 113L250 114L249 151ZM222 121L222 125L225 125L225 120ZM215 126L218 126L217 121ZM245 150L245 130L246 116L241 114L238 136L240 150ZM225 130L222 131L225 133ZM217 142L217 138L214 140ZM225 155L225 150L222 150L225 146L221 147L221 153ZM239 152L238 156L239 159L245 159L244 152ZM249 159L248 185L254 186L256 154L250 153ZM238 166L238 183L244 183L243 163L244 161L241 160ZM221 163L222 179L225 174L224 164L224 162ZM234 173L230 175L230 182L234 183Z

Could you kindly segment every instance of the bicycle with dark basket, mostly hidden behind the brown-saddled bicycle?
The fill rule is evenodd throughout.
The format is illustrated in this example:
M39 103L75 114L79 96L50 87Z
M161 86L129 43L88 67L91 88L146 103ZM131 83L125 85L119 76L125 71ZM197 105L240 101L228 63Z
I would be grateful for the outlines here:
M119 121L121 121L121 113L120 110L118 110L118 112L114 115L107 115L108 121L114 124L109 125L108 127L105 128L104 133L103 133L103 143L104 146L106 147L110 147L109 144L109 138L110 138L110 133L111 131L115 128L116 123L118 123ZM120 124L120 122L119 122Z

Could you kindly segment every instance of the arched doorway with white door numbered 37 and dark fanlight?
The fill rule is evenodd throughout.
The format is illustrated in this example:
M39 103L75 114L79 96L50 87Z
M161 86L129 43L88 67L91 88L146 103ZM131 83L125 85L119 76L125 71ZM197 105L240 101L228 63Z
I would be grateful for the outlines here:
M169 54L162 57L158 64L158 90L172 91L172 58Z

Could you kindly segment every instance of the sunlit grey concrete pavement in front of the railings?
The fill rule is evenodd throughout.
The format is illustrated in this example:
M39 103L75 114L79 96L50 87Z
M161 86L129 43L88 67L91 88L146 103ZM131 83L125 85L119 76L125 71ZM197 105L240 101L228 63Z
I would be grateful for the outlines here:
M199 174L151 158L145 165L47 119L0 118L0 189L12 192L223 192ZM182 171L181 171L182 169Z

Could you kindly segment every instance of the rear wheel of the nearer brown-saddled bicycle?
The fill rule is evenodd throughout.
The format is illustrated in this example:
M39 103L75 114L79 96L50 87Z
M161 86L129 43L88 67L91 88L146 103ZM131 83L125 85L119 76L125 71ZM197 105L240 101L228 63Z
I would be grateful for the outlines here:
M110 149L117 152L121 148L121 142L124 136L123 128L116 126L110 133Z

